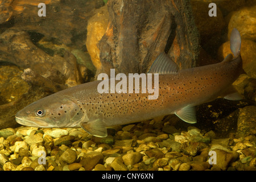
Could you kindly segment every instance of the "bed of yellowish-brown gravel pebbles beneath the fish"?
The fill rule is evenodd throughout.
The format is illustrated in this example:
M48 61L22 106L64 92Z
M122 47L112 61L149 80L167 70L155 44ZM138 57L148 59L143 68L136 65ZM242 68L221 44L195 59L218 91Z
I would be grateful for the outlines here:
M97 138L82 129L18 127L0 130L0 171L256 170L255 135L144 121Z

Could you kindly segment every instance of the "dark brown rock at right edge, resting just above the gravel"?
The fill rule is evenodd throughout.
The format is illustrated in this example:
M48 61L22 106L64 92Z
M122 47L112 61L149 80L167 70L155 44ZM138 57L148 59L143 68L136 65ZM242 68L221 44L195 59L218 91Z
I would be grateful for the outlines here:
M237 132L241 135L256 134L256 106L240 109L237 121Z

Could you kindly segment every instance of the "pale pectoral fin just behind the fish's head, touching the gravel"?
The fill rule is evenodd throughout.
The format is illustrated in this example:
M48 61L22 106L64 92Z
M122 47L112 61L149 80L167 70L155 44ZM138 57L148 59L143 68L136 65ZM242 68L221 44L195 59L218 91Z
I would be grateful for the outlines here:
M82 129L84 129L87 133L94 135L96 137L107 137L108 131L104 122L100 119L96 119L89 122L80 123Z

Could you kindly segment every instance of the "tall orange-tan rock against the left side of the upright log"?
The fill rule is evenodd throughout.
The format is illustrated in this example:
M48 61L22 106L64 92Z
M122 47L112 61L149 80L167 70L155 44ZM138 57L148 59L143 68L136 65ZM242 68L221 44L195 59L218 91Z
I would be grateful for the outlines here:
M92 58L94 66L98 70L101 69L101 61L100 49L97 45L106 32L106 28L108 27L108 19L108 8L105 5L98 9L96 14L88 20L86 48L90 54L90 57Z

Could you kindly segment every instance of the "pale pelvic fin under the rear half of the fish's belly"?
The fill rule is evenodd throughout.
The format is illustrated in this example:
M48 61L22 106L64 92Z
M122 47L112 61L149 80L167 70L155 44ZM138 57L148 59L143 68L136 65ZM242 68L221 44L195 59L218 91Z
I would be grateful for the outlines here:
M186 106L175 112L177 117L187 123L196 123L196 109L195 107Z

